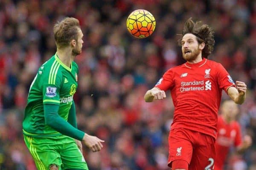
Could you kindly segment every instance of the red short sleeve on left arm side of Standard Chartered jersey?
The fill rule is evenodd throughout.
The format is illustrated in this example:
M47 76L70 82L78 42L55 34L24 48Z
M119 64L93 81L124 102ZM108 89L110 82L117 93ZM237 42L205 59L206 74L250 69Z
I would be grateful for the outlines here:
M169 69L167 72L164 73L163 77L157 82L155 87L167 91L168 89L172 89L174 86L174 79L173 79L173 71Z

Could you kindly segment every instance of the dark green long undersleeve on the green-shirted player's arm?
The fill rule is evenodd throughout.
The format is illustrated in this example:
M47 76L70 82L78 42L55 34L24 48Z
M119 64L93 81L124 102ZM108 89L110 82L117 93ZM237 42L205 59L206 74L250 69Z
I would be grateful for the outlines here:
M84 132L76 129L70 123L58 115L58 105L44 104L45 123L63 135L82 140Z

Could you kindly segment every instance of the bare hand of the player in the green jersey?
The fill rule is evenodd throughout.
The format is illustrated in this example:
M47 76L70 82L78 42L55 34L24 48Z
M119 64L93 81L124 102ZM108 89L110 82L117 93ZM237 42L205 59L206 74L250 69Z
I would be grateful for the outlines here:
M82 141L93 152L100 151L103 148L102 142L105 142L97 138L96 136L91 136L91 135L88 135L87 133L84 134L84 138Z

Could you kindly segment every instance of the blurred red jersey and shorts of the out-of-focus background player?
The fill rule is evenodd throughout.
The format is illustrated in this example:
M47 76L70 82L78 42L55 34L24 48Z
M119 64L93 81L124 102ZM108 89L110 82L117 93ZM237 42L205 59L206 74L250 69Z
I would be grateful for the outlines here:
M222 170L228 151L231 146L238 147L242 144L240 125L237 121L227 124L224 119L218 117L218 137L215 143L216 158L215 169Z

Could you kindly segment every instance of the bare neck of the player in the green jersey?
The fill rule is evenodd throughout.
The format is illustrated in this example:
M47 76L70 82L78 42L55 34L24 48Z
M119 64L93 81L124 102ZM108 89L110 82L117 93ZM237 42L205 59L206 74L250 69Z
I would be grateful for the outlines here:
M74 57L72 55L72 49L64 48L57 49L58 58L64 63L66 66L70 68L72 61L74 61Z

